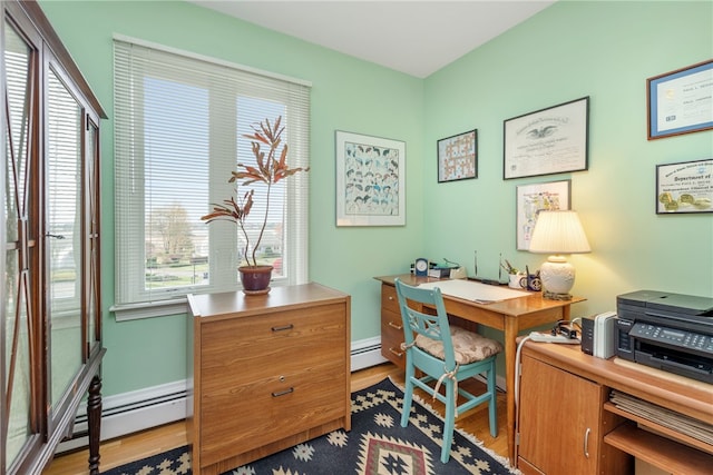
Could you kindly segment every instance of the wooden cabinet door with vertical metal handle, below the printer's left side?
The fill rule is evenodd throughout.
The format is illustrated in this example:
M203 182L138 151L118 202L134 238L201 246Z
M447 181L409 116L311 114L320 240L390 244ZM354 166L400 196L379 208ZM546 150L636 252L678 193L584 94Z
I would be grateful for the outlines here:
M545 474L595 474L602 388L522 357L518 456Z

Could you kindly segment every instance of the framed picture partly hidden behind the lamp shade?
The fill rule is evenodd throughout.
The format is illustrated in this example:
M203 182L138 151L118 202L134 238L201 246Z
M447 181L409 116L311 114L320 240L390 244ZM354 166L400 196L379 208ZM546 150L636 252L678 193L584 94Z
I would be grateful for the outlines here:
M569 209L572 180L517 187L517 249L528 250L539 211Z

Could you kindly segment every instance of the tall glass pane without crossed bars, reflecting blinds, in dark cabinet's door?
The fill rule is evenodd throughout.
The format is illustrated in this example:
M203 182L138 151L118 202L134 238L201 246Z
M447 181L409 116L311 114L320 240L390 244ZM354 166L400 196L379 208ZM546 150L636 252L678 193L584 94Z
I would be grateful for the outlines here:
M84 363L82 109L57 71L46 89L46 315L50 326L50 405L61 403Z

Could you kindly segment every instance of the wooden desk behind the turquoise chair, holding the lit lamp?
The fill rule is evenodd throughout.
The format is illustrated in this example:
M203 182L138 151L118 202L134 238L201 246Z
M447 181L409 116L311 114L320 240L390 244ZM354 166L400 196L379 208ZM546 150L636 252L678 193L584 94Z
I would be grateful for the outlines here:
M409 285L438 281L439 279L416 277L411 274L374 277L382 283L382 319L384 317L384 307L390 307L390 309L387 308L387 317L390 317L392 320L398 317L399 319L397 321L400 325L400 315L393 315L393 308L398 311L398 303L393 303L395 307L391 307L390 305L390 297L395 295L394 279L397 277ZM471 300L443 295L443 303L446 304L446 310L449 315L504 331L505 380L507 385L506 402L508 413L508 458L512 464L515 464L515 354L517 352L516 339L518 333L526 328L533 328L557 320L568 320L570 304L583 300L585 299L580 297L574 297L567 301L547 300L543 298L540 293L531 293L527 297L511 298L492 304L477 304ZM394 324L387 323L385 326L393 327ZM383 328L384 321L382 321L382 329ZM383 339L382 334L382 355L403 367L406 363L402 359L399 360L394 358L393 355L389 353L389 346L384 348Z

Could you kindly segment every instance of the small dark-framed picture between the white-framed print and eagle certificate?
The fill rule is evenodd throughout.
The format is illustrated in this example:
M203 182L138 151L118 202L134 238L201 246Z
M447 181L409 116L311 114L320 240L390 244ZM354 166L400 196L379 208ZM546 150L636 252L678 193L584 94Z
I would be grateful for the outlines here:
M478 130L438 140L438 182L478 178Z

